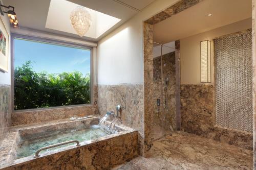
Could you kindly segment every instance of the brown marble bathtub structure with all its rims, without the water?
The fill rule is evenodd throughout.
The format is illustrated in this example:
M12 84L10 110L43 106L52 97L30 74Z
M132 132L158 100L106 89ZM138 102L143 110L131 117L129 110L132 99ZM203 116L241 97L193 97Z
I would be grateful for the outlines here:
M114 134L97 131L96 137L84 135L82 138L80 134L93 131L90 128L97 125L99 119L94 115L86 119L62 119L12 127L0 146L0 169L110 169L137 156L138 132L130 127L116 125ZM66 132L79 136L80 145L70 143L42 151L38 157L20 151L27 140L41 140L42 135L51 137Z

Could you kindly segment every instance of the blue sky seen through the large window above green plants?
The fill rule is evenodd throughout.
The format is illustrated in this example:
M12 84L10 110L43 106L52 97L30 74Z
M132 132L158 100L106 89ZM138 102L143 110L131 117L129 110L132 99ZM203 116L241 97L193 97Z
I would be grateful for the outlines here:
M77 70L83 75L90 73L90 50L15 39L15 67L22 66L26 61L33 62L36 72L58 74Z

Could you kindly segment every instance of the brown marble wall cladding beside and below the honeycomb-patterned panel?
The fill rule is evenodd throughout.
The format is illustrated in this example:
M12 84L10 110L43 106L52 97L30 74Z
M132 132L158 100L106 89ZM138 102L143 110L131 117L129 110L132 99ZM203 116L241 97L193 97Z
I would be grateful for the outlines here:
M214 86L181 85L181 130L252 150L252 133L214 125Z

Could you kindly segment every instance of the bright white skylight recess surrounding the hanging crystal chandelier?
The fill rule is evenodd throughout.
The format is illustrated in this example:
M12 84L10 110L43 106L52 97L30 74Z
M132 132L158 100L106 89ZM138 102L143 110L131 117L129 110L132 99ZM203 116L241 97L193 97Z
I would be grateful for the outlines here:
M65 0L51 0L46 28L76 34L70 22L70 13L79 5ZM120 21L119 18L86 8L91 15L92 25L84 35L97 39Z

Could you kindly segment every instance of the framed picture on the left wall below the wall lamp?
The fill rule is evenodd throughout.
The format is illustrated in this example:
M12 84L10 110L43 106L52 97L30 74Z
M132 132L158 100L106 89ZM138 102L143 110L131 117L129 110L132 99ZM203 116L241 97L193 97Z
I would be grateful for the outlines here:
M9 61L9 35L0 17L0 71L8 72Z

